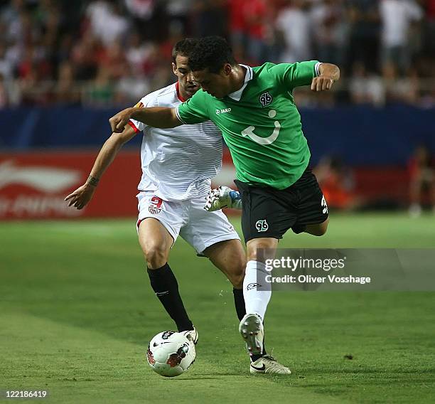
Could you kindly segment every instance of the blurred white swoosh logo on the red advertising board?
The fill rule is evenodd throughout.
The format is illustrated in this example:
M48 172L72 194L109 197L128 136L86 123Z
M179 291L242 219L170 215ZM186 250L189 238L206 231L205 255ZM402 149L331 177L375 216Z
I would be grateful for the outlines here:
M14 161L0 164L0 189L9 184L31 186L41 192L61 192L80 181L80 171L54 167L18 167Z

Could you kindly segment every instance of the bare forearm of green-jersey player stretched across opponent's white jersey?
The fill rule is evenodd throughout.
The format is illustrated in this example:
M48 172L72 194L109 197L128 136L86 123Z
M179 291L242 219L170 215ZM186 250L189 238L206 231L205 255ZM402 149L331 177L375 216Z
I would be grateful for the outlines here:
M183 122L178 119L175 108L169 107L148 107L138 108L132 107L118 112L109 119L112 132L121 133L124 127L129 123L130 119L144 122L150 127L159 127L167 129L171 127L178 127Z

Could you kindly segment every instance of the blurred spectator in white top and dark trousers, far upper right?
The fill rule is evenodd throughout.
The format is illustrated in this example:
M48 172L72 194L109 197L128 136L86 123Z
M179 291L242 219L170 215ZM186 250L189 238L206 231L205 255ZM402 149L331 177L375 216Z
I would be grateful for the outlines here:
M382 70L393 64L400 74L404 74L409 69L412 57L409 29L412 22L421 20L422 11L414 0L382 0L380 16Z

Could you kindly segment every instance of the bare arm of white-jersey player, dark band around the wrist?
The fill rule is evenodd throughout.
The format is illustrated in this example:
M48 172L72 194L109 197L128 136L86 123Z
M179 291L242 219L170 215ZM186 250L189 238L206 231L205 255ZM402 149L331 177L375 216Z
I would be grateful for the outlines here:
M112 136L104 142L85 184L65 198L65 201L69 202L68 206L74 205L74 207L79 210L85 208L87 203L92 199L97 189L98 181L100 181L104 171L106 171L107 167L117 156L123 144L128 142L135 134L134 129L130 125L127 125L121 134L113 133Z

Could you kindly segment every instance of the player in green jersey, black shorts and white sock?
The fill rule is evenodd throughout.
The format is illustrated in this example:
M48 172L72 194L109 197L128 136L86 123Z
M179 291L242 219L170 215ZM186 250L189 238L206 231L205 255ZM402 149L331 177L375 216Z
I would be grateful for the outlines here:
M317 60L240 65L220 37L201 38L188 64L202 88L190 100L177 108L127 108L109 122L113 132L122 132L129 119L163 128L211 120L221 130L236 168L247 243L247 314L239 329L251 354L251 373L264 373L271 359L263 355L263 319L272 295L264 261L274 257L290 228L323 235L328 227L328 206L308 166L310 151L292 92L303 85L330 90L340 70Z

